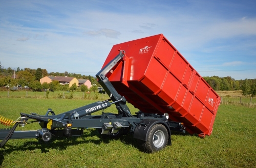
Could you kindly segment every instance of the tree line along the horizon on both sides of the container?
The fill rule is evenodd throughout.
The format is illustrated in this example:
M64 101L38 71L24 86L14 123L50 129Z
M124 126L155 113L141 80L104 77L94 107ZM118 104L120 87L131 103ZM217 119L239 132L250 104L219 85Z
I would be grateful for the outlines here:
M14 77L15 73L15 77ZM34 88L35 90L41 89L53 89L53 90L68 90L67 85L58 85L57 81L53 81L52 83L41 83L39 82L40 78L45 76L69 76L75 77L77 79L88 79L91 81L92 86L100 87L97 82L96 77L91 75L81 75L76 73L68 73L63 72L50 72L48 73L46 69L30 69L24 68L17 69L13 68L4 68L0 62L0 87L13 87L13 86L28 86L30 88ZM243 95L245 96L255 96L256 95L256 79L244 79L244 80L235 80L230 76L219 77L219 76L211 76L211 77L203 77L206 82L211 86L215 91L237 91L242 90ZM95 88L96 88L95 87Z

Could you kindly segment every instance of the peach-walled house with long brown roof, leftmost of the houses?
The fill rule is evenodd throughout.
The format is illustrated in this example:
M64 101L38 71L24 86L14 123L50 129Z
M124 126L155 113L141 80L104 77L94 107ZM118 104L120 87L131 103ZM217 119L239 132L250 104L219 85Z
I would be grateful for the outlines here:
M69 87L71 87L74 83L76 83L76 86L78 86L78 80L75 77L67 77L67 76L45 76L40 79L40 83L50 83L53 80L56 80L59 82L60 85L69 84Z

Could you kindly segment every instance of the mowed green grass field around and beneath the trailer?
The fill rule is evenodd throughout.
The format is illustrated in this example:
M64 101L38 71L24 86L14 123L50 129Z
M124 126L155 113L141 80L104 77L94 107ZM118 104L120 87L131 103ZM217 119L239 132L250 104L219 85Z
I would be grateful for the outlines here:
M15 120L19 113L56 114L97 100L0 98L0 115ZM128 104L135 113L135 109ZM115 112L115 107L105 112ZM100 112L98 113L100 114ZM80 137L13 139L0 148L0 167L255 167L256 108L221 104L210 136L172 133L172 146L147 154L132 135L100 138L95 129ZM8 128L0 125L1 128ZM37 123L17 130L39 129Z

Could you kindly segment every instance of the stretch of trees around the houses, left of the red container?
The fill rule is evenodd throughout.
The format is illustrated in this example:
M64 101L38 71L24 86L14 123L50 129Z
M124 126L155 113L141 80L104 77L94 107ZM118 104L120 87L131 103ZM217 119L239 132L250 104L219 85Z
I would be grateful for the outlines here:
M46 69L30 69L30 68L24 68L20 69L19 67L17 69L13 68L4 68L1 65L0 62L0 87L5 88L13 88L13 87L19 87L19 88L26 88L29 87L33 91L40 91L40 90L59 90L59 91L66 91L66 90L81 90L84 92L89 91L87 86L84 86L86 88L80 87L77 88L75 86L71 86L69 88L69 85L60 85L58 81L52 81L50 83L44 82L40 83L40 78L45 76L68 76L68 77L75 77L77 79L88 79L92 83L92 87L90 88L91 91L96 91L98 89L99 83L97 82L96 77L93 77L91 75L81 75L76 73L68 73L67 71L64 73L59 72L51 72L48 73ZM77 83L78 84L78 83Z

